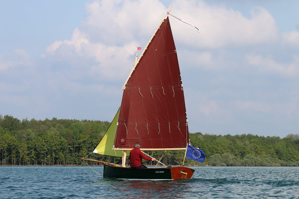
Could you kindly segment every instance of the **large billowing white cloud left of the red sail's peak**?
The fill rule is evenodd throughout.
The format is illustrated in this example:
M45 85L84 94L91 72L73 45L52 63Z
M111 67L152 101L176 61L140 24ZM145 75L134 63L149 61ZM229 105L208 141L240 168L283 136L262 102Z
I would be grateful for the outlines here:
M69 60L76 67L78 63L74 60L79 56L90 61L84 69L81 67L83 73L101 79L125 80L134 64L136 47L140 46L140 41L135 41L136 35L145 31L151 35L153 24L157 26L156 19L161 20L155 13L165 12L163 8L157 0L94 1L86 5L88 15L81 27L74 30L71 40L54 41L42 58L54 56L58 61ZM147 14L156 17L149 18Z

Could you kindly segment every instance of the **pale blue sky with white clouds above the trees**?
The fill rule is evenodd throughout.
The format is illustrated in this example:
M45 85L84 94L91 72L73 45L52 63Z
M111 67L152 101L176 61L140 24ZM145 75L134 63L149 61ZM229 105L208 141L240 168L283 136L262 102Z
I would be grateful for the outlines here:
M112 121L170 6L189 131L299 129L299 1L0 1L0 114Z

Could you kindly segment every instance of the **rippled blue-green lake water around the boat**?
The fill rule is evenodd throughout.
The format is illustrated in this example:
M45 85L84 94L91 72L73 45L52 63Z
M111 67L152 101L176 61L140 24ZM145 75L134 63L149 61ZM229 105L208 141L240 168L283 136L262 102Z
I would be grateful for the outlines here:
M122 181L88 166L0 166L0 198L299 198L298 167L191 168L189 180Z

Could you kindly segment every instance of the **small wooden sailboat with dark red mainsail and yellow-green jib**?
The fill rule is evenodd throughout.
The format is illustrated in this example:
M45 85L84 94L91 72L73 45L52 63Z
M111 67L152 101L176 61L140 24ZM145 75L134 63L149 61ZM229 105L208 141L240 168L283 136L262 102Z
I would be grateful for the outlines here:
M170 8L171 9L171 8ZM170 11L170 10L169 10ZM186 150L190 142L179 62L167 12L123 85L120 108L94 153L122 157L104 163L103 177L130 180L190 179L184 166L134 169L125 165L139 142L144 150Z

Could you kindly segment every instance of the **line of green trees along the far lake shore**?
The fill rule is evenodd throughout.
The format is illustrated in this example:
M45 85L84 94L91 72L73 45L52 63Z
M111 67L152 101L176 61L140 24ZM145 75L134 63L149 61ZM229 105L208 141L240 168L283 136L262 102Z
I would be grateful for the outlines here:
M0 165L85 165L110 125L109 121L45 120L22 121L0 114ZM277 136L210 135L190 133L192 146L206 154L204 163L185 159L186 166L298 166L299 135ZM164 151L147 151L159 159ZM120 164L121 158L90 154L89 158ZM184 151L166 151L161 162L181 165ZM128 164L128 160L126 162ZM153 165L154 162L145 162ZM98 165L97 162L89 162Z

